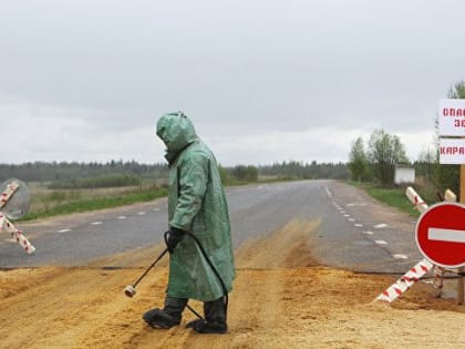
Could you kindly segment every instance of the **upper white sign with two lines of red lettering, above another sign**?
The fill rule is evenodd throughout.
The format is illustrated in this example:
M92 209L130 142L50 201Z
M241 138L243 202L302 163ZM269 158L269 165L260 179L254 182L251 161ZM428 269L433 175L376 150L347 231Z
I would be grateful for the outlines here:
M465 100L440 100L440 136L465 136Z

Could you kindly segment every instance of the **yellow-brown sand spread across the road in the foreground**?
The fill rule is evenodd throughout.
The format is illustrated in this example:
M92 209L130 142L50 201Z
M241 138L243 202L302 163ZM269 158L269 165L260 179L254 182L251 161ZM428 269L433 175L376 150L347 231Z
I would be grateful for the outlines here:
M395 277L317 266L309 232L290 222L237 252L227 335L182 326L152 329L141 315L162 307L166 260L137 287L123 289L162 246L112 256L91 267L0 271L1 348L465 348L465 307L434 298L418 283L393 306L372 300ZM122 266L122 269L102 269ZM202 311L202 304L192 301Z

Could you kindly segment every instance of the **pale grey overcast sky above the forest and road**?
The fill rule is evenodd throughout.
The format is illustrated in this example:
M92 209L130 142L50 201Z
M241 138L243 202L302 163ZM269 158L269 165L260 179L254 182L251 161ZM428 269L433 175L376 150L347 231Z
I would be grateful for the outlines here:
M465 1L0 0L0 163L163 162L182 110L224 165L414 161L465 79Z

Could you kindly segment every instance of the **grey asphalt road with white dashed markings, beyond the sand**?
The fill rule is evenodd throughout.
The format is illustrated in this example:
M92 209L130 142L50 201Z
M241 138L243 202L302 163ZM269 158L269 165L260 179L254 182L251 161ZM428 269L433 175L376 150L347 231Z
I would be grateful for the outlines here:
M318 220L309 238L321 264L356 271L405 273L422 256L413 218L333 181L249 185L227 189L235 247L291 219ZM27 255L0 233L0 267L86 265L89 261L162 242L166 198L117 209L21 224L35 246Z

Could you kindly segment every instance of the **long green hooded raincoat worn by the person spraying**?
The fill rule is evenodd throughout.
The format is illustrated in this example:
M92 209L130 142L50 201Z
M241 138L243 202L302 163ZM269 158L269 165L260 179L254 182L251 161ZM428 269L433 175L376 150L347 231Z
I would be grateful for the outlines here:
M236 271L228 207L215 156L182 113L163 115L156 133L167 147L169 226L192 232L200 240L229 292ZM169 256L167 295L211 301L223 294L199 247L185 236Z

